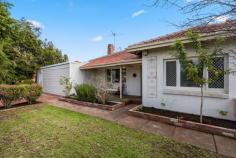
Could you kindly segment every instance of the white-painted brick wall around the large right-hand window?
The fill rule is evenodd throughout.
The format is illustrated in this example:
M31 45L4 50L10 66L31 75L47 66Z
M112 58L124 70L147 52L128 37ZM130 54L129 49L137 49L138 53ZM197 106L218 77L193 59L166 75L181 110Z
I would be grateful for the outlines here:
M226 41L224 52L229 53L229 68L236 70L236 42L235 40ZM189 56L194 56L193 50L187 48ZM234 52L234 53L233 53ZM156 94L155 96L148 95L148 73L147 61L150 57L156 57ZM191 114L199 114L200 111L200 89L191 90L190 88L174 88L167 89L164 84L164 60L173 58L169 48L158 50L149 50L147 56L142 59L143 72L143 105L147 107L156 107L168 109L172 111L180 111ZM236 120L235 105L233 99L236 98L236 74L230 74L228 77L228 86L226 92L209 94L204 98L203 114L207 116ZM213 97L214 96L214 97ZM165 104L165 106L162 105ZM227 116L222 116L219 111L227 111Z

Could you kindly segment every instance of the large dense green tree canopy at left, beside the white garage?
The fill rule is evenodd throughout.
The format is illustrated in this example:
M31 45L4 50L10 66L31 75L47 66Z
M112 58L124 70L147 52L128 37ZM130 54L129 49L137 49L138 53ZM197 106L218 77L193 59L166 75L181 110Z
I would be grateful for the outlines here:
M68 61L52 42L40 39L40 28L11 17L12 6L0 0L0 84L32 79L41 66Z

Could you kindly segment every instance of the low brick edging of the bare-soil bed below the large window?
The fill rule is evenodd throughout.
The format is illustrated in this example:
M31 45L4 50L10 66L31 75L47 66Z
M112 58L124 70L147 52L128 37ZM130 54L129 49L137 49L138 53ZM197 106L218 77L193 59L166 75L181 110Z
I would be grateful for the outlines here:
M197 130L201 132L206 132L210 134L221 135L221 136L226 136L226 137L236 139L236 130L234 129L228 129L228 128L218 127L214 125L209 125L209 124L201 124L197 122L185 121L185 120L180 120L176 118L170 118L166 116L154 115L154 114L137 111L137 109L140 107L141 106L139 105L130 109L128 111L128 114L132 116L136 116L136 117L141 117L144 119L163 122L163 123L178 126L178 127L188 128L192 130Z

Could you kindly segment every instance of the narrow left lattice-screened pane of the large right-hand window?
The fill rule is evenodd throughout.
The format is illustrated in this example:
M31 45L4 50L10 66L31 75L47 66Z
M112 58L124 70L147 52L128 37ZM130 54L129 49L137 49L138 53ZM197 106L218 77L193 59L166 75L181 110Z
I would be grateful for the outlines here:
M176 86L176 61L166 62L166 86Z

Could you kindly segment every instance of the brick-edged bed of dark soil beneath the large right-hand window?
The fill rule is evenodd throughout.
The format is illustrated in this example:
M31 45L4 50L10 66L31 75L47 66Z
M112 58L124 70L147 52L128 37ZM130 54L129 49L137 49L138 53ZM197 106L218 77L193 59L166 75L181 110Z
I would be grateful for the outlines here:
M129 114L149 120L159 121L175 126L207 132L210 134L223 135L236 139L236 121L203 117L203 124L199 123L199 116L137 106L129 110Z

